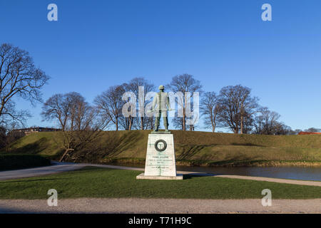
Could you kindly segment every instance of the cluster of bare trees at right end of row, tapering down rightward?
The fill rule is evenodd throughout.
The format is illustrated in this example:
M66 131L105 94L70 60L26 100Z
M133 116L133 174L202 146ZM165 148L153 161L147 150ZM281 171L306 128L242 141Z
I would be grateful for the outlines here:
M200 109L205 126L215 129L228 128L233 133L262 135L291 135L296 132L279 121L280 114L259 105L258 98L251 95L250 88L226 86L219 94L203 95Z

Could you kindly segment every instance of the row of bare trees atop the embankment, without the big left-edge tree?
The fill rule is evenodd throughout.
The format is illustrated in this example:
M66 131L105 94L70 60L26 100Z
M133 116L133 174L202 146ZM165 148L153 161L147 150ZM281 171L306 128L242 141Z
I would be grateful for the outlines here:
M140 87L144 90L139 91ZM198 115L203 116L205 127L211 128L213 132L217 128L228 128L233 133L240 134L287 135L295 133L290 127L279 121L280 115L278 113L259 105L259 99L251 95L250 88L240 85L226 86L218 94L215 92L203 93L200 81L188 74L173 77L166 88L175 93L190 92L193 94L193 92L199 92L203 94ZM123 99L124 93L128 91L134 93L138 98L135 101L135 106L141 105L145 108L148 101L138 93L146 94L155 89L156 87L146 79L133 78L128 83L111 86L97 95L93 105L86 103L79 93L56 94L44 103L41 115L44 120L58 120L63 131L81 131L89 128L94 130L106 128L116 130L153 129L153 117L139 115L139 113L126 117L122 114L122 110L128 102ZM180 130L195 130L198 123L190 123L191 121L189 121L188 124L187 119L193 119L193 116L186 115L185 103L186 100L183 100L183 105L178 107L182 109L183 116L176 115L173 118L173 125ZM140 111L135 109L133 112Z

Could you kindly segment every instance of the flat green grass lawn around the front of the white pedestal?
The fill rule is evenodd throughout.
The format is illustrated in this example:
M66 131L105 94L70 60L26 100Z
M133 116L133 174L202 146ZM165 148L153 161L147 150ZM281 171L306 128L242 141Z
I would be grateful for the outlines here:
M0 199L46 199L49 189L58 198L141 197L195 199L260 199L267 188L272 199L321 198L321 187L288 185L223 177L185 180L136 180L141 171L86 167L56 175L0 182Z

